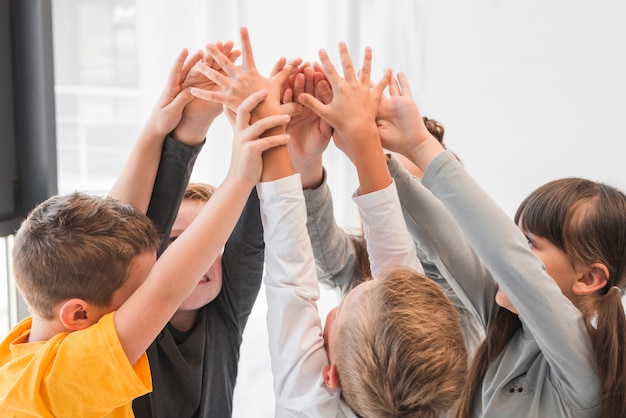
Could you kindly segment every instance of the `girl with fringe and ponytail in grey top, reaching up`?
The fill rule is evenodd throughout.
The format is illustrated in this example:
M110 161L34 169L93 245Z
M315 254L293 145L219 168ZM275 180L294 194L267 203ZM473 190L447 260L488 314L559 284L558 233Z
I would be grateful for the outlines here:
M518 228L419 123L415 105L411 113L404 134L382 139L425 172L406 189L421 242L461 269L438 247L467 237L485 263L482 278L444 274L488 324L457 416L625 416L624 194L584 179L550 182L519 207Z

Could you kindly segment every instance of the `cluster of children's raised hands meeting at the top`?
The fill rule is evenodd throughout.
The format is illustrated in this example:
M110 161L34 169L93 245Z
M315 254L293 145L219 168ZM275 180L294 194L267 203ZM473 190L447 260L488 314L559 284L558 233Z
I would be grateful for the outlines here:
M412 159L424 142L436 142L406 74L394 77L385 69L380 81L371 80L371 48L365 48L362 67L355 71L346 44L339 43L343 77L323 49L320 63L281 57L265 77L256 68L247 28L240 29L240 37L241 50L232 41L209 43L192 55L182 50L146 126L163 138L171 134L197 145L224 112L234 131L229 175L258 183L263 153L287 145L305 188L321 183L322 154L331 138L353 163L365 147Z

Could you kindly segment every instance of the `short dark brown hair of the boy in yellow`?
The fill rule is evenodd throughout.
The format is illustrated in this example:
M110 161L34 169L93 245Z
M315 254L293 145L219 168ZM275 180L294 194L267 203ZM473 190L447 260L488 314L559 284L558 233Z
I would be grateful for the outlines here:
M15 235L15 281L43 319L70 298L107 306L134 257L156 251L158 242L152 222L130 205L81 192L53 196Z

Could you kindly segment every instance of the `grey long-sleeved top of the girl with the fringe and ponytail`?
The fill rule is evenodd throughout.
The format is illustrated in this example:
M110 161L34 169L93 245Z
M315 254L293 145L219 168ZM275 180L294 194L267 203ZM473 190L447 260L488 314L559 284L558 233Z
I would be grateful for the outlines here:
M601 386L582 314L512 220L450 152L438 156L421 183L412 182L405 191L405 207L419 220L417 240L468 308L488 324L501 309L494 300L499 285L522 322L488 367L472 416L599 416ZM482 277L462 274L478 268L465 245L457 245L465 239L487 269Z

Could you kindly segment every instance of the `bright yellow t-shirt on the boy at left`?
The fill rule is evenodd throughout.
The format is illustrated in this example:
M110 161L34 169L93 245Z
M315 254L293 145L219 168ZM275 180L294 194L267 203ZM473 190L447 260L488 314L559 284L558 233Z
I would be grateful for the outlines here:
M0 344L0 416L133 417L132 400L152 390L145 353L128 362L114 313L87 329L24 343L32 318Z

